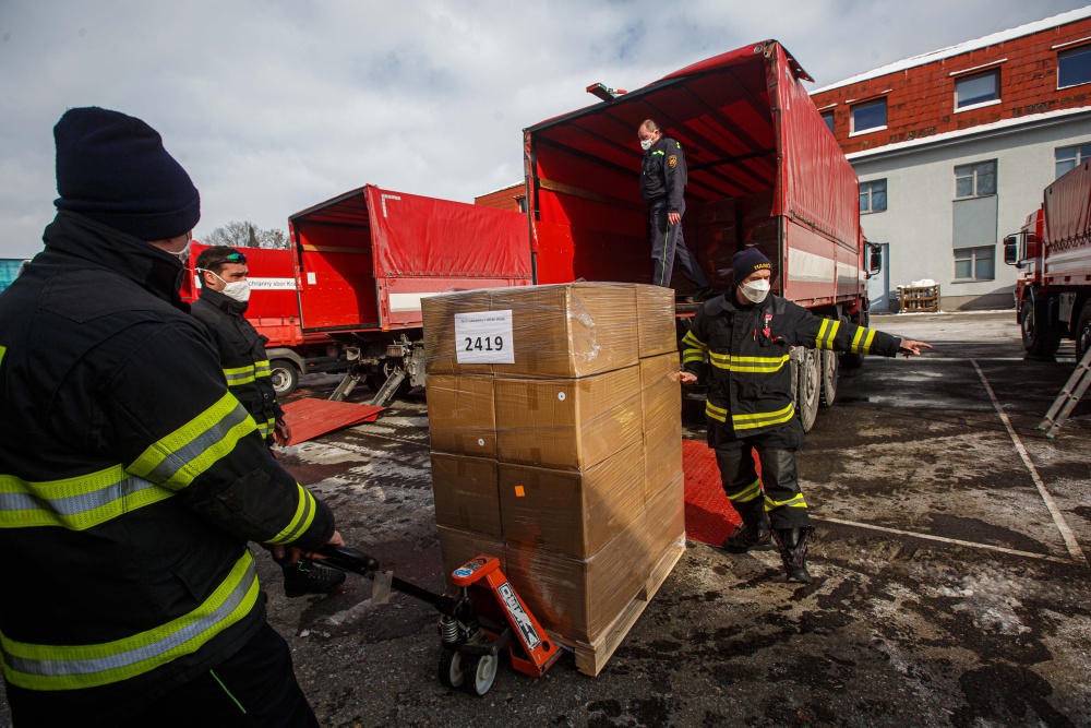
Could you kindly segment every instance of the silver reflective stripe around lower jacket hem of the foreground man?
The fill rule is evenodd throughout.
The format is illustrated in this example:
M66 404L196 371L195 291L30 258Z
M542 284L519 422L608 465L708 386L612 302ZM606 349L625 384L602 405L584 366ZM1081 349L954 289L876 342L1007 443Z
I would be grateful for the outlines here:
M227 617L235 611L236 607L242 604L242 600L245 598L247 593L250 592L250 587L256 578L257 571L254 568L253 561L251 561L250 565L247 568L245 574L242 576L242 580L240 580L219 608L209 614L205 614L204 617L194 620L191 624L180 629L178 632L169 634L148 645L144 645L143 647L137 647L136 649L130 649L117 655L110 655L109 657L80 660L35 660L27 659L25 657L15 657L8 654L5 651L3 659L8 667L20 672L49 677L64 675L94 675L96 672L105 672L119 667L135 665L136 663L141 663L146 659L153 659L185 644L190 640L197 637L203 632L213 629L227 619Z

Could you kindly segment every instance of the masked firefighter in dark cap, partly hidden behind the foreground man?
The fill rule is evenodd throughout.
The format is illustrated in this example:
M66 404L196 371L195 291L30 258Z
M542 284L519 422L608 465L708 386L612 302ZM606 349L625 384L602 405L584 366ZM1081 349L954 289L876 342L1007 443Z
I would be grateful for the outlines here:
M201 298L193 302L191 313L208 329L219 351L228 392L254 418L267 445L274 442L287 445L291 428L273 389L269 357L265 353L268 339L244 315L250 305L245 254L226 246L206 248L197 255L195 267ZM320 566L310 559L292 562L288 554L274 554L274 559L284 571L284 593L288 597L325 594L345 581L345 572Z

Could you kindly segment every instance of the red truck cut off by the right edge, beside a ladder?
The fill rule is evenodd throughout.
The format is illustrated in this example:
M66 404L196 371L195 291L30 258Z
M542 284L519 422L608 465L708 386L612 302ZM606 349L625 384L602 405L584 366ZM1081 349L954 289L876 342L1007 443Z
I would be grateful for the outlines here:
M1004 262L1022 270L1016 318L1028 354L1053 356L1070 338L1082 359L1091 348L1091 162L1045 188L1022 229L1004 238Z

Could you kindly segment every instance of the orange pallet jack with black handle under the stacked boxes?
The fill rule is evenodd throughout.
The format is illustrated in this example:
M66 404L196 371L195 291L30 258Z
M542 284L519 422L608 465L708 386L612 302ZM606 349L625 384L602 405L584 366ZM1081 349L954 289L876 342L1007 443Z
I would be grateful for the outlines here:
M427 601L440 612L440 682L461 688L478 697L496 679L501 651L507 651L512 667L539 678L561 656L561 648L541 628L538 620L500 570L500 560L482 554L452 572L457 596L435 594L382 572L379 562L365 553L344 546L324 546L319 550L324 565L335 566L371 578L372 604L382 602L393 588Z

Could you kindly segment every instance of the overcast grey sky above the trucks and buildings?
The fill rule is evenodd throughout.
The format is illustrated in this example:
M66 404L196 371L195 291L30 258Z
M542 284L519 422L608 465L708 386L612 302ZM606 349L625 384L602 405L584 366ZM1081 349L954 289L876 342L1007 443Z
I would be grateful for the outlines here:
M1086 4L1063 0L0 0L0 258L41 249L67 108L140 117L201 190L196 237L365 183L471 202L521 130L754 41L815 86Z

